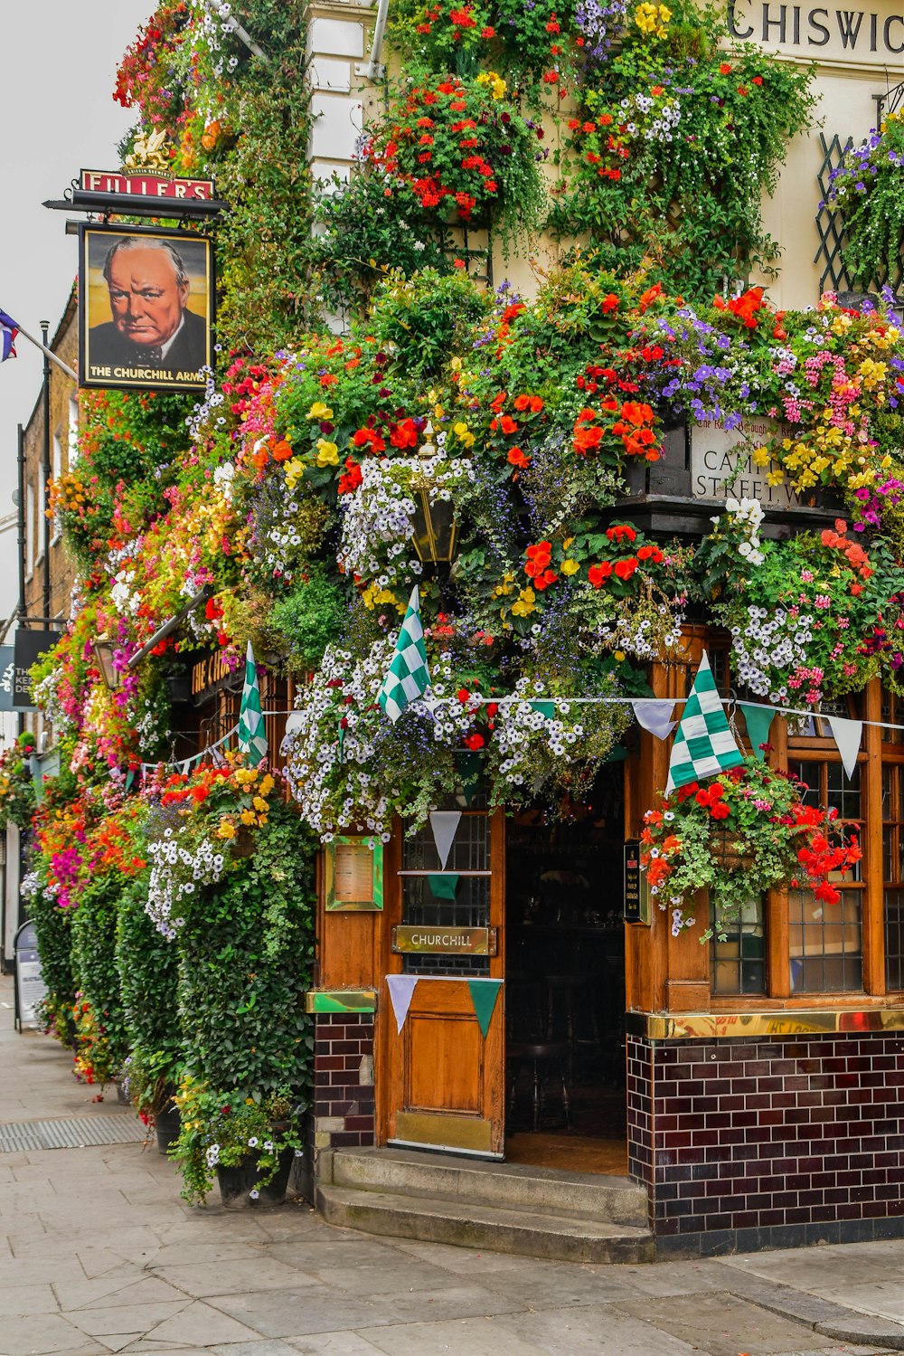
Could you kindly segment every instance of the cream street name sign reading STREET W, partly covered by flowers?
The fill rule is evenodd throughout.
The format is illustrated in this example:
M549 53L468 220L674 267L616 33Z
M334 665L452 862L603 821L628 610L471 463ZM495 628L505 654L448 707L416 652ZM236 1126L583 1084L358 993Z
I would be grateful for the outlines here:
M725 428L716 419L691 424L691 495L694 499L758 499L763 509L804 509L801 495L786 480L770 485L775 462L758 466L754 449L782 431L774 419L745 419Z

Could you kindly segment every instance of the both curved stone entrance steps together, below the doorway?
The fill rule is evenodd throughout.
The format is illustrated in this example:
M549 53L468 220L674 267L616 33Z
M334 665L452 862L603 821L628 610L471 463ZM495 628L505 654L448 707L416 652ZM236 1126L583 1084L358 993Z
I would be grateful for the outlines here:
M340 1149L321 1155L331 1224L572 1262L652 1262L646 1192L623 1177L445 1154Z

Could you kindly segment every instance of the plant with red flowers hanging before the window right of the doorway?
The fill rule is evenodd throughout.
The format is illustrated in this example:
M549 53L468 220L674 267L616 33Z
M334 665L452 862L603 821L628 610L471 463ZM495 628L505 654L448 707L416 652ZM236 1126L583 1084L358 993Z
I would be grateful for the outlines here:
M861 860L857 835L838 811L804 803L805 786L790 773L755 757L707 781L693 781L648 810L641 834L641 868L660 909L671 907L672 934L693 928L684 903L709 890L721 937L741 906L774 885L800 883L836 904L829 873ZM702 941L712 936L707 929Z

